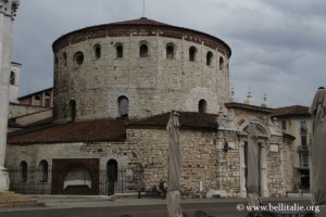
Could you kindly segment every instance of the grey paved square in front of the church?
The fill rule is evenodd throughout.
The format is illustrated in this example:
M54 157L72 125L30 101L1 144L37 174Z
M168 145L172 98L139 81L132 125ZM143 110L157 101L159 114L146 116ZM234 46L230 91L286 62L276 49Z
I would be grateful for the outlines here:
M16 207L0 208L0 217L7 216L60 216L60 217L84 217L84 216L120 216L123 212L129 212L134 216L142 216L148 213L150 216L165 216L166 200L136 196L73 196L73 195L37 195L33 196L43 207ZM310 204L310 197L278 197L263 199L271 203L293 203ZM205 210L217 217L240 217L246 216L244 212L237 210L237 204L247 204L247 199L185 199L181 200L183 208L187 214L193 215L198 209ZM151 213L154 209L154 213ZM34 212L34 213L33 213ZM110 215L105 215L110 213ZM62 214L64 213L64 214ZM90 215L90 214L91 215ZM48 215L51 214L51 215ZM58 215L57 215L58 214ZM70 214L70 215L68 215ZM95 215L93 215L95 214ZM101 215L103 214L103 215ZM218 215L217 215L218 214ZM220 215L221 214L221 215ZM145 216L146 216L145 215Z

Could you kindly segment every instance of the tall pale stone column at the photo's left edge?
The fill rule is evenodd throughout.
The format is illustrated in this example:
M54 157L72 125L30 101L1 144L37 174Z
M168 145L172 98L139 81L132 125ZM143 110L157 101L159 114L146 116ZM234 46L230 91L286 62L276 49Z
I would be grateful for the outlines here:
M18 0L0 0L0 191L9 189L9 177L4 168L4 157L9 108L12 22L16 15L18 4Z

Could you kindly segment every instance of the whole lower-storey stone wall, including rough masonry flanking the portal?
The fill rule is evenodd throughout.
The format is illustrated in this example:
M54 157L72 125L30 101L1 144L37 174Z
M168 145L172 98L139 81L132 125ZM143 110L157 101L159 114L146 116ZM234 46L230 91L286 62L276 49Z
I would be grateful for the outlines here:
M231 148L223 151L224 142ZM267 188L271 196L285 196L287 173L281 137L272 136L271 143L278 152L267 151ZM189 195L204 195L210 189L220 190L222 196L241 196L240 139L237 131L180 130L183 151L181 190ZM109 159L116 159L120 168L133 170L126 180L127 191L136 191L167 180L168 140L165 129L127 129L125 142L54 143L8 145L7 166L18 166L26 161L37 167L45 159L52 167L53 158L99 158L100 170L106 169ZM29 175L33 176L33 175ZM51 178L49 178L51 180ZM202 192L200 192L200 183Z

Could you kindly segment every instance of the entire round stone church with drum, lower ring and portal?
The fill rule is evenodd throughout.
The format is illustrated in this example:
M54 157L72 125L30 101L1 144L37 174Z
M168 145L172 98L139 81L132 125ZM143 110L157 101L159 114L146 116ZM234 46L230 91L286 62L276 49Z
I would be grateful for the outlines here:
M247 196L249 137L258 145L259 193L293 188L292 138L265 104L231 100L231 50L223 40L141 17L74 30L52 48L52 120L9 135L11 190L150 191L167 180L172 110L180 118L185 196Z

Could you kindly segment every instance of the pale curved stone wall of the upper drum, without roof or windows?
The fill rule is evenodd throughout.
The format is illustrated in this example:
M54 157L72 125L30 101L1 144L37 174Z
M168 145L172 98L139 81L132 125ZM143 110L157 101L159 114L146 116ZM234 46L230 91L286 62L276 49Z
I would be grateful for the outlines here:
M146 41L149 56L139 58L139 44ZM166 59L166 44L175 46L174 59ZM101 44L101 58L95 59L93 44ZM123 58L115 56L116 43L123 44ZM189 48L197 48L195 62ZM73 56L84 53L75 66ZM206 53L213 62L206 65ZM66 65L63 53L66 53ZM106 37L74 43L54 54L54 114L68 118L68 102L76 101L77 119L116 117L117 98L129 100L129 116L145 117L174 110L198 111L204 99L209 113L217 113L229 95L228 58L217 50L187 40L166 37ZM224 68L220 69L220 56Z

